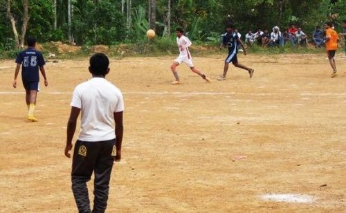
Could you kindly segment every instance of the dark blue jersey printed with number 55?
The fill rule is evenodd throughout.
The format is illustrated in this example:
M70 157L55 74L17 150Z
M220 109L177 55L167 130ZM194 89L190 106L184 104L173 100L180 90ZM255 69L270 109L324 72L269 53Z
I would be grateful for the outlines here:
M21 78L26 82L39 82L39 67L44 66L44 57L34 48L27 48L17 55L17 64L21 64Z

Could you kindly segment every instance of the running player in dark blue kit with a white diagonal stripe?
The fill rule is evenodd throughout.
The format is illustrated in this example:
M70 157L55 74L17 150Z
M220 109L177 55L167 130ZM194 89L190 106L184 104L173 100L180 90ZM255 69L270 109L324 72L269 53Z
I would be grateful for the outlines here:
M243 46L242 40L239 38L237 33L234 32L234 27L231 24L227 25L226 32L227 33L222 35L222 44L220 47L224 46L228 48L228 56L226 57L226 60L225 60L224 74L221 75L219 78L217 78L217 80L219 81L226 80L228 64L230 62L232 62L235 67L239 67L248 71L248 74L250 75L250 77L253 77L253 72L254 72L253 68L248 68L238 63L238 58L237 58L238 45L242 46L242 49L244 50L244 55L246 55L246 50Z

